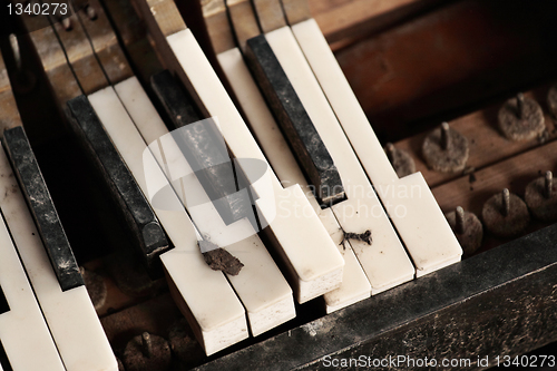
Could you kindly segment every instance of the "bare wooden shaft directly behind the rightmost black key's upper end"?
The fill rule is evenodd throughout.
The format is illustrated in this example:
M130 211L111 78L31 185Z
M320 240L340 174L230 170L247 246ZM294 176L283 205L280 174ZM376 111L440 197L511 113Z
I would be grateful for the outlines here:
M251 0L226 0L236 42L245 51L247 40L261 35Z

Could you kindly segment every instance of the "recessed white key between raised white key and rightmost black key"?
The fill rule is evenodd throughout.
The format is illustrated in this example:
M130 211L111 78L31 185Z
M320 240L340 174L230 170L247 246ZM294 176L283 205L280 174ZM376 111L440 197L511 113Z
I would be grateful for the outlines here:
M346 243L348 248L345 251L339 245L342 241L339 223L330 208L321 209L313 193L307 187L307 182L267 108L260 89L255 85L241 51L234 48L217 55L217 59L257 141L265 152L281 183L283 185L299 184L302 187L320 221L331 237L334 236L333 242L344 256L345 264L341 286L324 294L328 313L369 297L371 295L371 285L355 258L354 252L350 248L350 243Z

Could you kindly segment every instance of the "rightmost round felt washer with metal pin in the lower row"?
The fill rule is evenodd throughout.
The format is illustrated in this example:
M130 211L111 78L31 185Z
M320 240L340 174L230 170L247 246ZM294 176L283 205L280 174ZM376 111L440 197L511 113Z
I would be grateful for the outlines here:
M525 201L531 215L544 222L557 221L557 192L554 189L554 176L546 172L526 186Z

